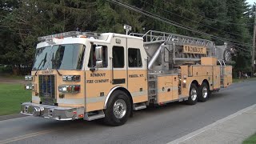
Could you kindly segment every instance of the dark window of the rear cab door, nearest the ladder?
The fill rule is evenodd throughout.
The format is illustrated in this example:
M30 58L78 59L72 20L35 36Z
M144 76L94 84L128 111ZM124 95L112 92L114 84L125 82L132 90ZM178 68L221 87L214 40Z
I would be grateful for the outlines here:
M142 56L139 49L128 49L128 66L129 67L142 67Z

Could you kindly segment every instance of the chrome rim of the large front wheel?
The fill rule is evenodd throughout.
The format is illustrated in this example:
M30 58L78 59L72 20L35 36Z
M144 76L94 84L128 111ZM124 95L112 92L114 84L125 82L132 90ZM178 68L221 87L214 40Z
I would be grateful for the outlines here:
M116 118L123 118L126 115L126 102L122 99L118 99L114 102L113 111Z

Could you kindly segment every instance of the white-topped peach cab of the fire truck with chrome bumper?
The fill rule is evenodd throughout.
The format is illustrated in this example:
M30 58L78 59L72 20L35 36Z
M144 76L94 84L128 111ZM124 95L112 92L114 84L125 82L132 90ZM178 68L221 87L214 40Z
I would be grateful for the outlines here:
M126 90L130 103L148 100L142 38L68 32L38 41L31 75L25 78L32 102L22 103L22 114L93 120L105 117L114 90Z

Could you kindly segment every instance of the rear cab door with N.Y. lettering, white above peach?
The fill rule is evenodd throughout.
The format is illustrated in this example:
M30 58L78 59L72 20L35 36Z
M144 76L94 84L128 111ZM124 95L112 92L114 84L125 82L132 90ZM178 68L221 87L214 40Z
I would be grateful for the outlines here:
M127 38L128 90L134 103L146 102L147 67L142 40Z

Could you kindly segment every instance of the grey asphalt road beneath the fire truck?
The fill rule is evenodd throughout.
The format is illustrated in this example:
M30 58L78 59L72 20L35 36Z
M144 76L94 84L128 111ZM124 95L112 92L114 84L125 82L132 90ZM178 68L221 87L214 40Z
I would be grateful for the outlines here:
M256 103L256 81L235 83L207 102L182 102L134 112L124 126L57 122L44 118L0 121L0 143L166 143Z

